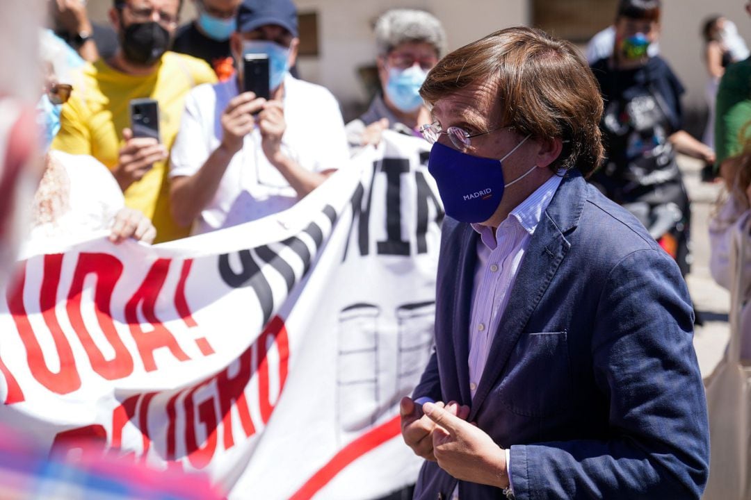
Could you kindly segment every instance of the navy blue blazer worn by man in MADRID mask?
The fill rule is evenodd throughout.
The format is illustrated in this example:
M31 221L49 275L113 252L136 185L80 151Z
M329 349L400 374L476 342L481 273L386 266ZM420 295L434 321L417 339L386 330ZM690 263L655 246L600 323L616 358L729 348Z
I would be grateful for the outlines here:
M698 499L709 430L692 345L693 310L673 259L587 184L562 180L521 262L475 399L469 306L478 235L446 219L436 283L436 349L413 397L455 400L511 448L518 500ZM448 499L434 462L415 499ZM501 491L460 481L462 500Z

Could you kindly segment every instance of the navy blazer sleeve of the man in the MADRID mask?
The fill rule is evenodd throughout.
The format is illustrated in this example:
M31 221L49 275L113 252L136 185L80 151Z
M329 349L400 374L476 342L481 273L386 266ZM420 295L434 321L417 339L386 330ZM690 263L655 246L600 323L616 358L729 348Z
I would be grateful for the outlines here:
M518 500L700 498L709 430L692 311L661 250L636 250L611 269L591 345L609 439L512 446Z

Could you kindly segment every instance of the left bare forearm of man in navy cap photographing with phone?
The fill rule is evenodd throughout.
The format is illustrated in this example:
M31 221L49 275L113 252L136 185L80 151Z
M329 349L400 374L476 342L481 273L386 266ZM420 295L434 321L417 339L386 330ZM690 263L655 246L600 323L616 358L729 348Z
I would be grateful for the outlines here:
M220 145L194 175L173 178L170 205L179 226L190 226L211 202L233 156Z

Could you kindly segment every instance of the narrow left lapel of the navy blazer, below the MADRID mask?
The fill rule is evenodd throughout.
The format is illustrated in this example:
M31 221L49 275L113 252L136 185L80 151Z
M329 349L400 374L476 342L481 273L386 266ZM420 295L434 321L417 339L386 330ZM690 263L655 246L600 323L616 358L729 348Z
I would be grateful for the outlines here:
M457 378L463 405L469 405L472 395L469 392L469 313L472 307L472 285L475 281L477 265L478 235L472 226L466 224L460 241L463 242L459 262L457 262L457 293L454 294L454 324L451 337L454 340L454 360L457 365ZM445 403L448 403L446 401Z

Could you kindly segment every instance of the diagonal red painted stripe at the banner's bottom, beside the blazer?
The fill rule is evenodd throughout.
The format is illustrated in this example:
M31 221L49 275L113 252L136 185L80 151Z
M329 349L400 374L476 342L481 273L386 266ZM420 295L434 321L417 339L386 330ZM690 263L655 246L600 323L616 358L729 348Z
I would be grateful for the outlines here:
M346 466L369 451L383 445L389 439L399 436L401 432L400 418L397 415L385 424L363 434L339 450L339 453L334 455L325 466L312 475L306 484L303 484L303 487L290 497L290 500L312 499L316 493L321 491Z

